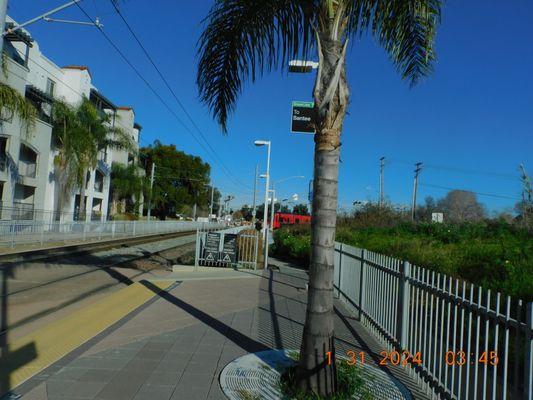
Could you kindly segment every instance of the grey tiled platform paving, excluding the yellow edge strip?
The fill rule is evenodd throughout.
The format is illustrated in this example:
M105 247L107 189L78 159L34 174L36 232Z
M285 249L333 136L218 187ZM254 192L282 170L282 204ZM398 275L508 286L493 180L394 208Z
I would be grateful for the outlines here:
M176 284L13 390L23 399L224 399L218 376L231 360L268 348L298 349L305 273L178 270ZM181 275L180 275L181 274ZM214 276L214 275L216 276ZM165 277L165 278L169 278ZM181 278L181 279L180 279ZM231 278L231 279L227 279ZM379 360L381 347L336 304L336 345ZM390 371L416 392L400 368Z

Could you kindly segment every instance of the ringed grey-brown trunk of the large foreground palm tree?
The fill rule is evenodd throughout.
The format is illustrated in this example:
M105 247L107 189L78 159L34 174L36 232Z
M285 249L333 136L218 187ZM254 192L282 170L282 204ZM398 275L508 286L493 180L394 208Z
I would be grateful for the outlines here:
M334 36L338 37L338 36ZM347 43L317 34L319 71L314 91L316 126L311 265L298 384L320 396L337 390L333 324L333 259L337 222L340 136L346 115Z

